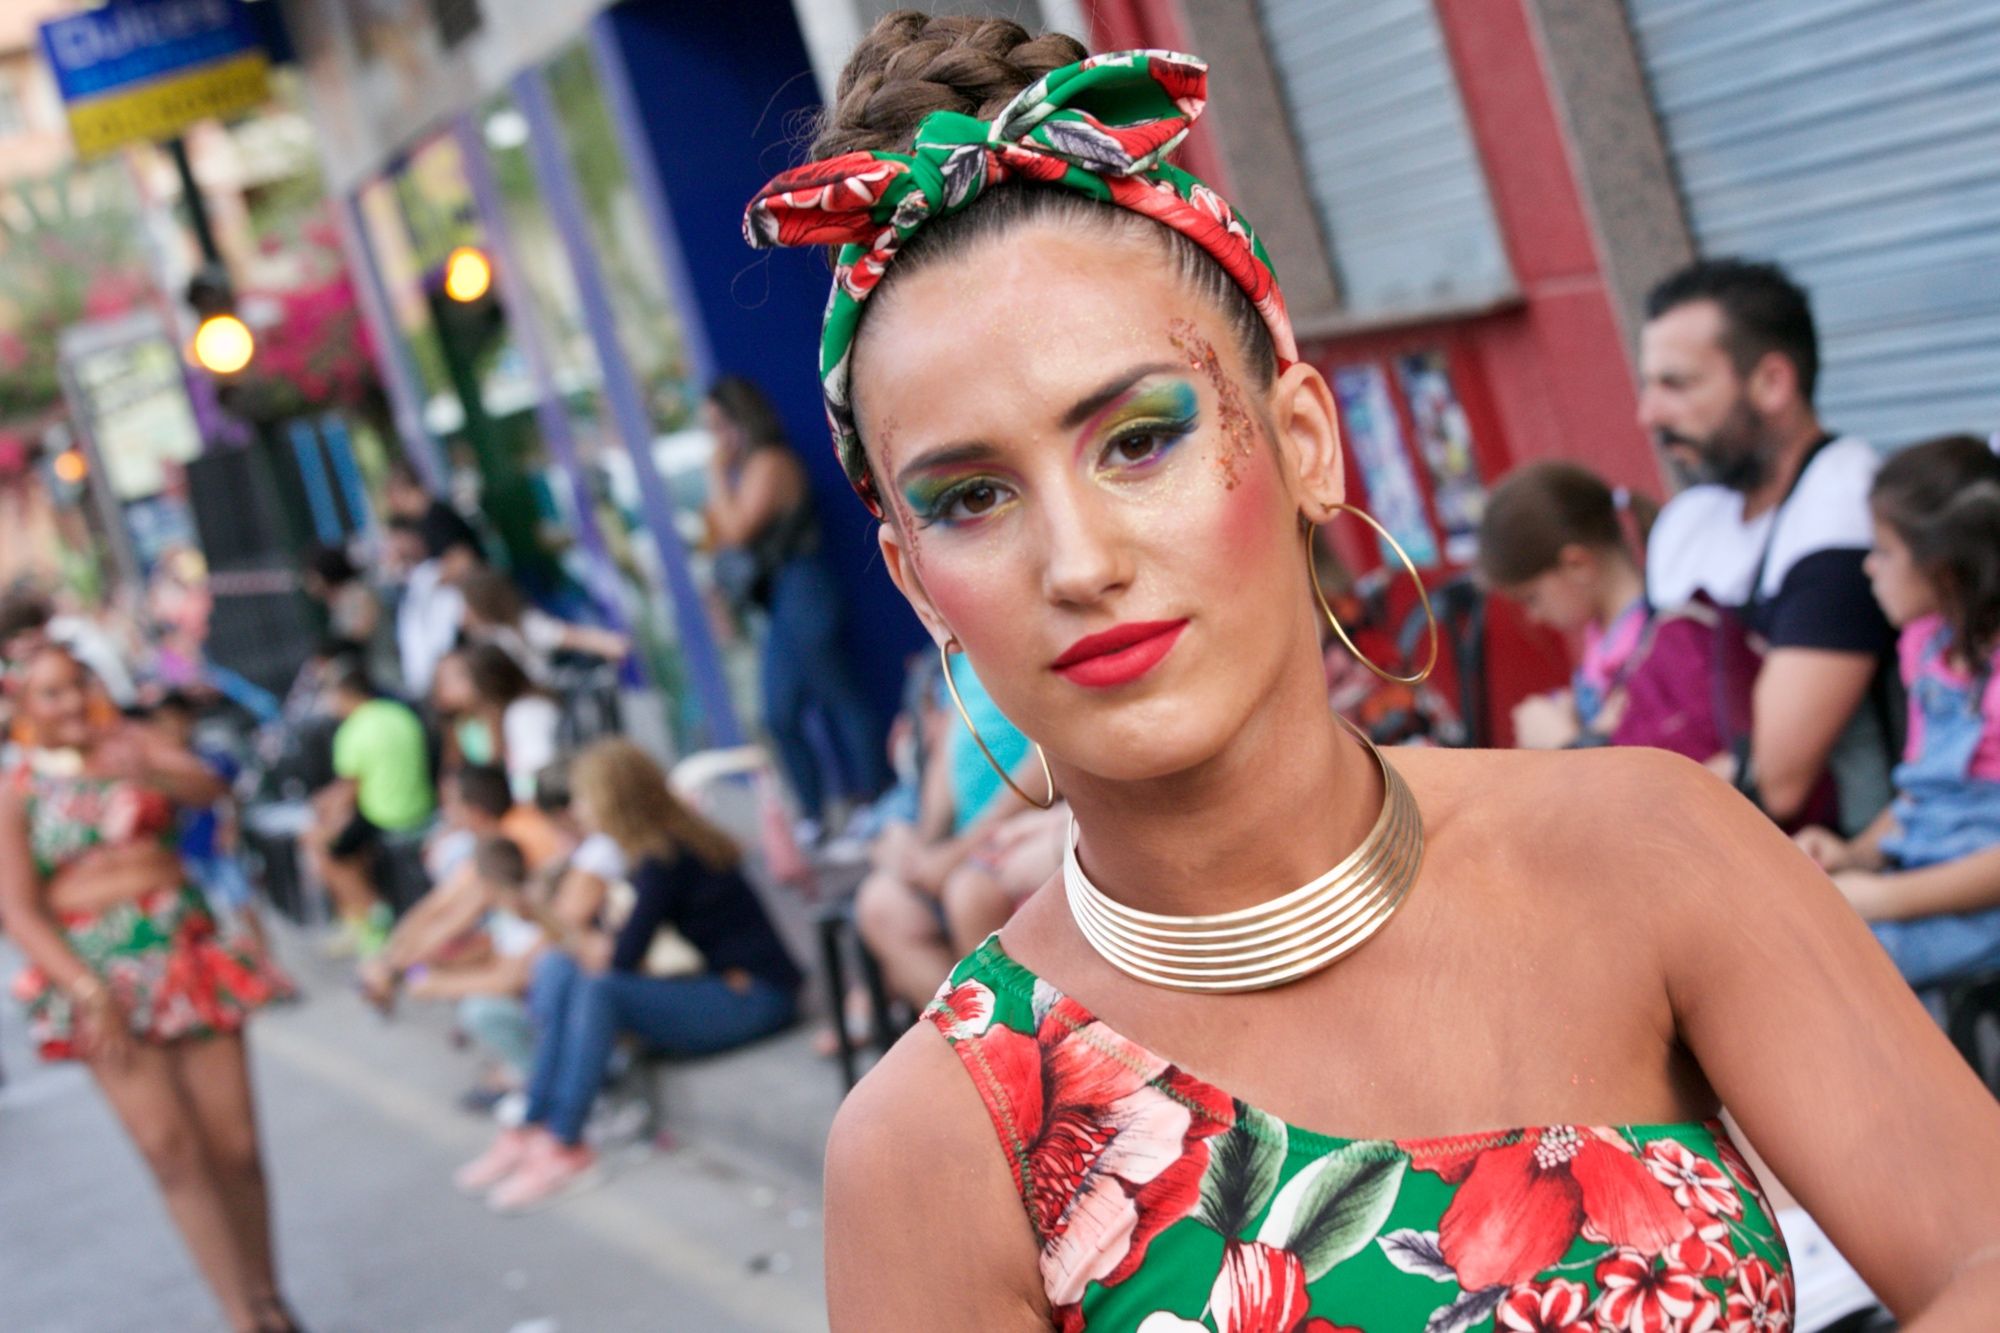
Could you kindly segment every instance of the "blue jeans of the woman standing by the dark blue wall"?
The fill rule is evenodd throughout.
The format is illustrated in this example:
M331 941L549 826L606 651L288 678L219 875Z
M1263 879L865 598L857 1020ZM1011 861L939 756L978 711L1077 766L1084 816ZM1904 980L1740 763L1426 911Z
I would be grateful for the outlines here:
M820 819L826 807L820 757L806 735L812 709L834 745L846 795L868 799L888 787L874 713L840 650L840 586L814 556L792 560L772 580L762 671L764 729L800 811Z

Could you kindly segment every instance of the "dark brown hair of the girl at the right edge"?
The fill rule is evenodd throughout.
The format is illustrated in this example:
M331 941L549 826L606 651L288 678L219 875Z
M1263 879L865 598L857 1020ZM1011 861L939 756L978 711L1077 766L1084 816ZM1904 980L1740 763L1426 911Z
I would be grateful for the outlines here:
M1972 434L1910 444L1868 492L1910 548L1952 630L1952 650L1986 679L2000 650L2000 456Z

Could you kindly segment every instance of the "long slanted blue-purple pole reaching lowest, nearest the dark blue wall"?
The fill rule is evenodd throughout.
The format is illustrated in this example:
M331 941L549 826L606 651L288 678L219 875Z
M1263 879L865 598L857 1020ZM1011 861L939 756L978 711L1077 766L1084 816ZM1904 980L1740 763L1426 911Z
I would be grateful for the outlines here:
M632 362L626 360L618 342L618 318L612 312L604 266L584 218L576 174L556 124L556 110L548 100L548 84L542 70L532 68L516 74L510 88L516 106L528 118L528 162L542 186L556 234L562 236L562 246L570 252L576 294L584 306L584 324L590 328L590 340L598 348L598 362L604 370L604 400L610 404L612 422L632 456L646 528L660 548L660 568L666 572L668 592L674 598L674 626L688 662L688 677L702 705L708 745L742 745L742 729L736 725L736 707L730 703L728 683L722 677L722 658L708 632L702 594L688 572L688 552L680 544L680 532L674 530L674 498L666 492L666 482L660 480L652 462L652 420L646 414L646 396L640 392Z

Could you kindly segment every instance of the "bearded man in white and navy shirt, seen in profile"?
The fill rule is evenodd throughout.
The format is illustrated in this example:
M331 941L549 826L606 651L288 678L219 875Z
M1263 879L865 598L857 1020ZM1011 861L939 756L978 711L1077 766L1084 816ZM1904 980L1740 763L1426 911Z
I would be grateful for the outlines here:
M1646 594L1706 594L1764 648L1750 733L1714 767L1780 823L1832 769L1852 831L1890 797L1896 636L1862 572L1878 454L1820 422L1818 370L1812 304L1776 264L1700 260L1652 290L1638 420L1690 484L1652 530Z

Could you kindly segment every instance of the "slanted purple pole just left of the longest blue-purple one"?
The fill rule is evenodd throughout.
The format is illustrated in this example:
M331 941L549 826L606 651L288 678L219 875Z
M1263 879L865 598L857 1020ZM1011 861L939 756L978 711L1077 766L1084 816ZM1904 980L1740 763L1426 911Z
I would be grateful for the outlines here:
M584 472L576 452L576 432L570 412L562 404L562 390L556 386L554 358L542 340L542 324L534 308L534 292L528 290L520 252L514 248L514 232L506 220L506 204L500 198L500 182L494 176L492 158L486 156L486 136L474 114L460 114L452 120L452 136L458 140L458 156L464 162L466 184L472 188L472 206L480 214L480 230L486 234L486 248L492 250L494 286L500 290L500 308L506 310L508 330L514 346L528 362L528 378L534 380L534 422L570 482L570 502L576 506L576 536L584 546L584 564L590 570L590 596L606 614L614 628L628 628L624 604L618 596L618 574L612 566L604 532L598 528L598 510L590 496L590 474Z

